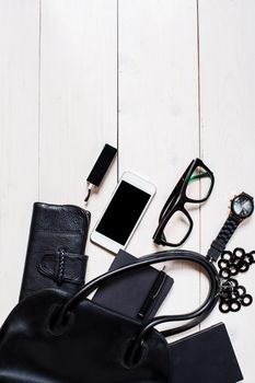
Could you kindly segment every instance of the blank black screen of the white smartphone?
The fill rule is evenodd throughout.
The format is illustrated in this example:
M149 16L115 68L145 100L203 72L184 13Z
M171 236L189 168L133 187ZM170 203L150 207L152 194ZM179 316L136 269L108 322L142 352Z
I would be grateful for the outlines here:
M95 231L125 245L151 195L121 181Z

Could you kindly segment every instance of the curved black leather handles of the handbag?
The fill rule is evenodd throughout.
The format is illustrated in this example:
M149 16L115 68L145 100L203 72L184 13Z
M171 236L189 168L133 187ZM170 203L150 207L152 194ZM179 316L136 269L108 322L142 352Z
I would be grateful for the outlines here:
M189 321L185 325L162 332L164 336L177 334L196 326L209 315L209 313L212 311L212 309L215 307L218 301L218 293L220 289L220 277L216 267L206 257L204 257L198 253L183 251L183 249L153 253L148 256L143 256L142 258L139 258L139 260L136 264L127 265L119 269L108 271L103 274L100 277L96 277L95 279L88 282L80 291L78 291L63 304L63 306L60 310L60 315L57 323L58 324L63 323L67 314L70 313L76 307L76 305L79 304L79 302L81 302L90 293L92 293L95 289L97 289L100 286L102 286L109 279L113 279L117 276L121 276L125 272L128 272L131 270L141 269L146 266L154 265L154 264L159 264L167 260L187 260L199 265L207 272L209 277L209 281L210 281L209 293L205 302L193 312L189 312L187 314L178 314L178 315L157 316L150 320L149 322L147 322L141 334L138 336L137 347L139 347L139 345L142 343L142 339L144 338L148 330L159 324L166 323L166 322L175 322L175 321L176 322Z

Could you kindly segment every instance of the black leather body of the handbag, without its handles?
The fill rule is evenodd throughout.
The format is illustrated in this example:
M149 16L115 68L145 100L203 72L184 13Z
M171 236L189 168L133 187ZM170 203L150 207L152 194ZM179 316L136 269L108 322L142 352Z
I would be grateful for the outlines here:
M68 298L61 290L31 295L14 309L0 332L1 383L166 383L169 351L155 330L140 363L125 365L141 322L84 300L59 333L50 313Z

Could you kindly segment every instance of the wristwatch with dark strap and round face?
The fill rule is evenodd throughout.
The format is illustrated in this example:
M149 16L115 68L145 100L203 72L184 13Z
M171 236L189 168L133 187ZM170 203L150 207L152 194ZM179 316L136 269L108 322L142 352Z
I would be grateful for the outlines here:
M217 260L219 258L235 229L243 220L252 216L253 211L254 200L248 194L243 192L231 200L230 214L207 253L209 259Z

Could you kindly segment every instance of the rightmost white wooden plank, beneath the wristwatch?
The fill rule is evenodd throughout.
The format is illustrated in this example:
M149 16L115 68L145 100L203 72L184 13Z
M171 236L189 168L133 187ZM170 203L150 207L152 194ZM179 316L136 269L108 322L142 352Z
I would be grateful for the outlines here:
M201 148L216 174L213 196L201 212L204 252L229 214L230 198L242 190L254 195L254 18L252 0L199 0ZM251 251L254 229L252 218L237 229L228 248ZM237 277L252 294L254 272ZM254 315L255 305L228 315L216 310L204 325L220 321L228 325L245 383L254 382Z

